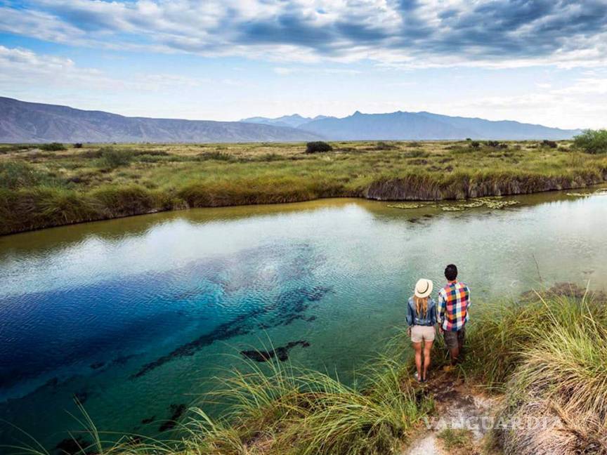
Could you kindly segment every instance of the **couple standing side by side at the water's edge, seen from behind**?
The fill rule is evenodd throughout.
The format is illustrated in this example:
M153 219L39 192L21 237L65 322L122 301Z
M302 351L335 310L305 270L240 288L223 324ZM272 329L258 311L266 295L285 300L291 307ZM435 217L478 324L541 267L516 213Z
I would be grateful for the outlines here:
M415 284L415 295L407 305L407 333L411 336L415 349L415 378L426 382L430 353L434 342L434 326L438 322L438 331L443 334L449 350L451 364L454 365L464 346L468 308L470 308L470 289L457 281L457 267L450 264L445 268L447 284L438 291L438 305L432 294L431 280L422 278Z

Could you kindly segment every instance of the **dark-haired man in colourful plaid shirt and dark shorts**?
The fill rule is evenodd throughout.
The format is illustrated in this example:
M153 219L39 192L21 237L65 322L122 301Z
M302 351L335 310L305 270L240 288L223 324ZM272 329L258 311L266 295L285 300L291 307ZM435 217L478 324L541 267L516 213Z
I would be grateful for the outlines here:
M466 322L469 319L470 289L466 284L457 281L457 267L453 264L445 268L445 278L447 285L438 291L438 324L449 350L451 365L455 365L464 347Z

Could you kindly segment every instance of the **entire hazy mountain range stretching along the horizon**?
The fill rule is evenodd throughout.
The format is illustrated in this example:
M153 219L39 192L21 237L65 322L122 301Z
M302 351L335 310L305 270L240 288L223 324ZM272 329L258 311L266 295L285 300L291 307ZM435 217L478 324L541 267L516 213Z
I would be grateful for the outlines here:
M450 117L430 112L343 117L250 117L207 121L124 117L102 111L0 97L0 143L44 142L295 142L308 140L568 139L564 130L518 121Z

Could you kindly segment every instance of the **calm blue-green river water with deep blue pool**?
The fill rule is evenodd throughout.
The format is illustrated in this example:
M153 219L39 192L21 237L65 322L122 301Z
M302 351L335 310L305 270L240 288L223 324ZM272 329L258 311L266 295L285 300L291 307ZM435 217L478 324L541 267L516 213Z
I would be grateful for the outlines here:
M79 428L76 395L103 430L166 435L171 404L270 339L306 341L291 360L349 381L403 323L415 281L442 283L447 263L471 286L473 322L540 277L604 289L607 196L516 200L443 212L330 199L0 237L0 418L52 448ZM15 437L0 423L0 444Z

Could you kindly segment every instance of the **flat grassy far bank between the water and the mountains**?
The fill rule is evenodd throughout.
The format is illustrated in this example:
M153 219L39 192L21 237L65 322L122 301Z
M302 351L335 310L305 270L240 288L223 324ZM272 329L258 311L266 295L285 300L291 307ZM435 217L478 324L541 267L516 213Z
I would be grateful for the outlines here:
M326 197L466 199L607 180L607 157L537 141L0 146L0 235L193 207ZM59 147L56 147L59 148Z

